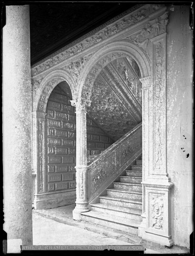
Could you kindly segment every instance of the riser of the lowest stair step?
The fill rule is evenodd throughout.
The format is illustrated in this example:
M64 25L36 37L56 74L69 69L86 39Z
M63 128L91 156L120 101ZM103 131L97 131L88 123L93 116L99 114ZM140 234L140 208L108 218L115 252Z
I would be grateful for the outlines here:
M124 232L132 233L134 235L138 235L138 228L137 227L130 227L130 226L126 226L126 225L118 224L118 223L115 223L115 222L94 218L94 217L91 217L91 216L85 216L85 215L82 215L82 220L83 221L88 221L90 223L99 224L99 225L102 225L102 226L105 226L105 227L110 227L110 228L113 228L114 230L122 230Z

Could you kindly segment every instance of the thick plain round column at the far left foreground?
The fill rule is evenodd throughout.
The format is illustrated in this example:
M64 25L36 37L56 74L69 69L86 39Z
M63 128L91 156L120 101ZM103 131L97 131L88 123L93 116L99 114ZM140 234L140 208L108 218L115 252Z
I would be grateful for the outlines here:
M32 244L31 108L29 6L6 6L3 27L3 229L9 244L11 241Z

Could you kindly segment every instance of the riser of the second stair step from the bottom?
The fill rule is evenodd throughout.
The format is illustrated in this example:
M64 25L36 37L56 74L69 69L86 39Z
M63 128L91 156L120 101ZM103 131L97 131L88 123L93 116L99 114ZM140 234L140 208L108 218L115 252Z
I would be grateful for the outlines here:
M100 207L91 207L92 211L94 212L102 212L102 213L106 213L106 214L110 214L110 215L114 215L114 216L118 216L118 217L122 217L122 218L128 218L131 220L135 220L135 221L140 221L141 222L141 216L140 215L136 215L133 213L126 213L126 212L119 212L119 211L115 211L114 209L105 209L105 208L100 208Z

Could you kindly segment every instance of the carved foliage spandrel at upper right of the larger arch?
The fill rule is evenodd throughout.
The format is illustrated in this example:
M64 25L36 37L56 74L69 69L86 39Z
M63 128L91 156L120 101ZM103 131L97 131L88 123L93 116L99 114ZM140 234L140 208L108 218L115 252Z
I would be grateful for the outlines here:
M161 35L166 32L166 26L168 23L168 12L165 12L160 17L156 17L154 20L151 20L146 23L143 29L140 32L128 36L126 39L137 44L141 47L144 52L149 55L148 45L151 38Z

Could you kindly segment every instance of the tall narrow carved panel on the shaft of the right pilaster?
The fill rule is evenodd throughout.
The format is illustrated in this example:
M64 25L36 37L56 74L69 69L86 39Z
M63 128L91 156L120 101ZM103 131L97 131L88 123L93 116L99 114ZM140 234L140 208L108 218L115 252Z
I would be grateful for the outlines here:
M166 35L153 41L154 173L166 173Z

